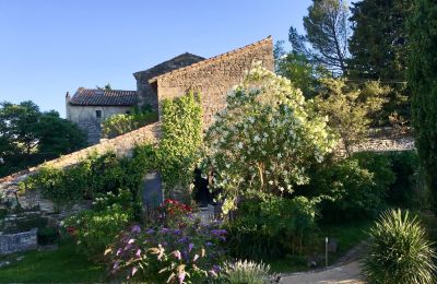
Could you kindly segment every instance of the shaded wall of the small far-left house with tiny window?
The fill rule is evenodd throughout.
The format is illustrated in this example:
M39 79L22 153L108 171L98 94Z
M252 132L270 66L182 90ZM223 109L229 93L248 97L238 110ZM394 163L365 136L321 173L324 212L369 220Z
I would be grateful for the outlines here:
M96 144L101 141L101 123L108 117L116 114L126 114L131 106L74 106L67 105L67 119L76 123L85 131L88 143ZM96 117L96 110L102 111L102 117Z

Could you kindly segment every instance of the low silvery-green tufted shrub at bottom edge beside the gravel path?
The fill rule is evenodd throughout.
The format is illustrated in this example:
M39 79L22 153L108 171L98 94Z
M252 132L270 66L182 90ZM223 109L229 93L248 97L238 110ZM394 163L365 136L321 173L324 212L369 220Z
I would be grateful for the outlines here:
M252 261L225 262L218 282L229 284L264 284L269 283L270 267Z

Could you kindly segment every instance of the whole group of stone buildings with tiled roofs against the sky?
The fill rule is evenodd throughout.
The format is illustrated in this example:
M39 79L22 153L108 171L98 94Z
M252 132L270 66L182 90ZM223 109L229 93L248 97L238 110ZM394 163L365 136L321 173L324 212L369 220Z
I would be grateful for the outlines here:
M213 115L225 106L227 93L241 82L246 71L257 61L273 71L270 36L209 59L186 52L133 73L137 91L79 88L71 98L67 95L67 118L87 132L91 143L97 143L103 119L144 104L160 113L160 102L192 91L202 97L206 127Z

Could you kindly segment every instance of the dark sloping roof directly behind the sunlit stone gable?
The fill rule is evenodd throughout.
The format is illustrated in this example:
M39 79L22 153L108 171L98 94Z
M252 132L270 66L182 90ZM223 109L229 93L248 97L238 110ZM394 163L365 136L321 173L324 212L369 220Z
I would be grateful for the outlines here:
M203 57L185 52L147 70L135 72L133 75L135 79L139 79L139 76L150 79L202 60L204 60Z

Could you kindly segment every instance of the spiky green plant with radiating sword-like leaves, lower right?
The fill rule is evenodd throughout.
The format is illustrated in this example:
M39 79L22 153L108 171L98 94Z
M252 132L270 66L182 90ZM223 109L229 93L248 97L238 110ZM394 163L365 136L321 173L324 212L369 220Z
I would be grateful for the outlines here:
M435 283L436 255L425 229L408 211L382 213L369 235L364 273L370 283Z

